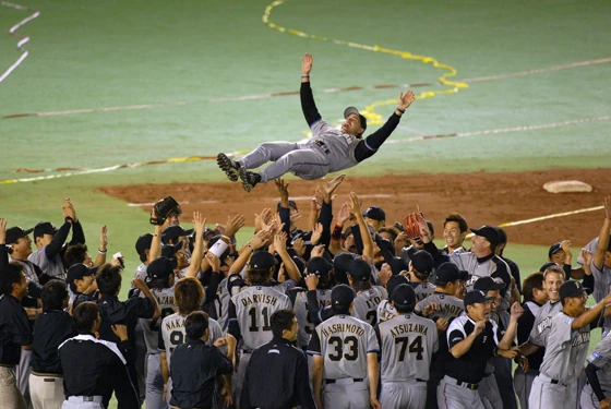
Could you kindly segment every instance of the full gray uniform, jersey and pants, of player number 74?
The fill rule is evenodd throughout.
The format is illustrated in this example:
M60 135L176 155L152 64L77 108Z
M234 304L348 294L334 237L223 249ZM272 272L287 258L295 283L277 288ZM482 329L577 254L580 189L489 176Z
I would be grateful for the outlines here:
M439 349L435 324L416 314L400 314L381 323L379 332L382 407L424 408L429 368Z

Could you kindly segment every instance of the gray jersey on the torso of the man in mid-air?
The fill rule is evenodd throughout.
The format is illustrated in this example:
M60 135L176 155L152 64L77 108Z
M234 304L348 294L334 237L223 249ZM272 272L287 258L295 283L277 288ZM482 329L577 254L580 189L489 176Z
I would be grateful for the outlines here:
M312 140L308 141L306 145L319 149L314 141L321 140L324 142L328 149L330 172L348 169L358 164L355 159L355 148L360 140L356 136L345 134L322 119L312 124L311 130Z

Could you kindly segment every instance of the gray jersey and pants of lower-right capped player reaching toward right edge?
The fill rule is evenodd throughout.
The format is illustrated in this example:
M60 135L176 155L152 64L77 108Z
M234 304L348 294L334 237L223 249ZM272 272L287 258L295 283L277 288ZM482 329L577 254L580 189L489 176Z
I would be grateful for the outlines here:
M529 408L574 409L577 405L577 380L588 354L590 327L573 329L574 321L563 312L553 316L543 363L528 398Z

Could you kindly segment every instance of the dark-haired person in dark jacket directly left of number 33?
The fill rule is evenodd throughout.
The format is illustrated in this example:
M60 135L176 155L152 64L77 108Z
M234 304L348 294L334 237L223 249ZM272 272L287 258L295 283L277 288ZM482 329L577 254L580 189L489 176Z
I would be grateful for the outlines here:
M240 408L315 409L308 359L292 345L299 329L295 312L278 310L271 324L274 338L252 352L247 366Z

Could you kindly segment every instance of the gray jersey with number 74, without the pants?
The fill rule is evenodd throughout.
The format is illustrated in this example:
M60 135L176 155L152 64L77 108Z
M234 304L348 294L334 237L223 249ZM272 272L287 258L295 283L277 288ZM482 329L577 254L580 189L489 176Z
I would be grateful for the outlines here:
M431 320L403 314L380 324L384 381L429 380L431 357L439 349L438 328Z

